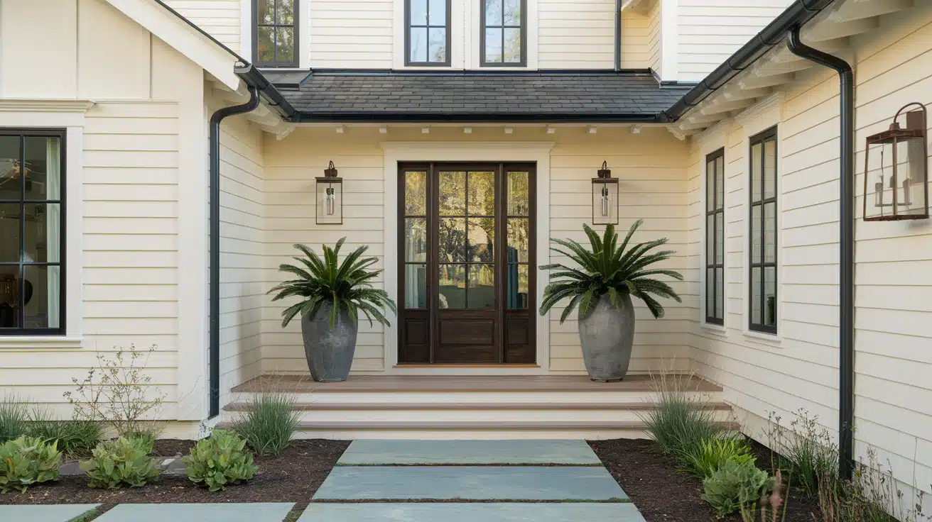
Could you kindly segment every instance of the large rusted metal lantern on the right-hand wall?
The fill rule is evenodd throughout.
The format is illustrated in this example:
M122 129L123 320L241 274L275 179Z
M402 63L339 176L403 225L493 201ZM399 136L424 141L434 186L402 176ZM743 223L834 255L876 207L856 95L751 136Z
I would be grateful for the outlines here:
M910 107L913 110L905 112ZM906 114L906 128L898 119ZM928 154L925 105L908 103L890 128L869 136L864 153L864 221L925 220Z

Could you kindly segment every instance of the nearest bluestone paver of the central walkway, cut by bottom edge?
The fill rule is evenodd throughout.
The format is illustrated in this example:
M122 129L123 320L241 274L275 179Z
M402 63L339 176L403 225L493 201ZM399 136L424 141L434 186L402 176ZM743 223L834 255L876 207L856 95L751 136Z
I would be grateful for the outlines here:
M311 503L298 522L644 522L632 503Z

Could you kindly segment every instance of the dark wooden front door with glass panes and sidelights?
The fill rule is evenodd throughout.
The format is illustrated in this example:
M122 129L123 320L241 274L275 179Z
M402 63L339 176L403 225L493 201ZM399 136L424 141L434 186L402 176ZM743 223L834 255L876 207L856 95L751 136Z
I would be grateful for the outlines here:
M398 362L534 363L534 165L407 164L398 179Z

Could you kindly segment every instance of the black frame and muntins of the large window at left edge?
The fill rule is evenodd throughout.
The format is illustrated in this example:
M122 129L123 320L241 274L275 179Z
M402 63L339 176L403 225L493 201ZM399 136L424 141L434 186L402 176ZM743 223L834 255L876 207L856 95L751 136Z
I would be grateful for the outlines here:
M59 267L59 326L58 328L0 328L0 340L12 338L12 337L27 337L27 336L36 336L36 337L62 337L66 335L68 330L68 279L67 279L67 261L68 261L68 203L67 203L67 166L68 166L68 148L67 148L67 129L63 127L0 127L0 136L19 136L21 138L20 145L20 154L25 154L25 141L27 137L43 137L43 138L58 138L59 139L59 168L60 168L60 179L59 179L59 198L57 200L28 200L33 203L36 202L46 202L46 201L57 201L60 207L59 214L61 216L61 232L60 240L61 245L59 246L59 261L57 262L34 262L29 263L34 266L52 266L57 265ZM26 204L25 199L25 183L20 183L20 200L17 203L21 209ZM22 218L22 210L21 210ZM20 222L20 241L24 241L23 227L25 222ZM22 259L16 263L5 262L4 265L16 264L17 266L22 266L24 263ZM20 313L20 319L24 320L25 310L22 310Z

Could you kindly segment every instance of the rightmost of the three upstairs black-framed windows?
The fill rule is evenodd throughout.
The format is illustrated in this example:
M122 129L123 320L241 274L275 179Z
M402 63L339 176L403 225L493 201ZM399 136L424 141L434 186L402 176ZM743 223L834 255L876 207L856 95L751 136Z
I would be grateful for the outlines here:
M527 0L482 0L484 67L523 67L528 62Z

